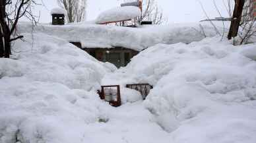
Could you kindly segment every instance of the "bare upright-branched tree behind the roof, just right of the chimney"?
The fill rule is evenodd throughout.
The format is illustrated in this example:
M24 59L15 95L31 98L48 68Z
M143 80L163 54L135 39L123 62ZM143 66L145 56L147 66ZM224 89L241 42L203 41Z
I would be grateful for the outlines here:
M67 10L68 22L80 22L84 20L86 0L58 0L59 6Z

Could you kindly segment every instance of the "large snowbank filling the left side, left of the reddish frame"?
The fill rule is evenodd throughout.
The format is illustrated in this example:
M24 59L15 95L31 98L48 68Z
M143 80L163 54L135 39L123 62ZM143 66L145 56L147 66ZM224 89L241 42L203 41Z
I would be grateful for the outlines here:
M0 59L0 142L80 142L110 107L96 94L108 69L74 45L22 34Z

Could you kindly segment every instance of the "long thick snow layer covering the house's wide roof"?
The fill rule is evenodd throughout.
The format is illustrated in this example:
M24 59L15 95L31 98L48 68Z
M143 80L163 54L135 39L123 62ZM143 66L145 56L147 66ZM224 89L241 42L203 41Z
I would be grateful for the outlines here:
M203 24L206 36L216 36L212 26ZM31 24L22 23L19 32L31 32ZM222 28L220 28L222 30ZM205 38L199 24L170 24L167 26L145 26L126 28L95 24L70 24L65 26L38 25L34 32L42 32L63 38L69 42L81 42L82 47L127 47L141 51L157 43L191 43Z

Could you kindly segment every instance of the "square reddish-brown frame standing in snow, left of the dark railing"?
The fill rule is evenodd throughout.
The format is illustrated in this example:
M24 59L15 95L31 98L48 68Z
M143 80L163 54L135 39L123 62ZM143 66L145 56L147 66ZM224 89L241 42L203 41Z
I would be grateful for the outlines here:
M106 92L105 88L110 88L110 90L112 88L116 88L116 100L113 99L107 99L108 96L112 96L111 95L107 95L108 93ZM111 93L111 92L110 92ZM118 107L121 105L121 95L120 95L120 86L119 85L111 85L111 86L102 86L102 90L98 90L98 94L100 95L100 99L101 100L105 100L108 101L110 103L110 105L112 105L113 107ZM113 97L113 96L112 96Z

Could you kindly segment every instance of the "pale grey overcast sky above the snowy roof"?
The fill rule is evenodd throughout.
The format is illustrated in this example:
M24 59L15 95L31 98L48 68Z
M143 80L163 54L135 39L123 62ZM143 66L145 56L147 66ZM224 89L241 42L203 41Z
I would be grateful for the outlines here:
M41 1L41 0L39 0ZM35 11L40 11L40 22L51 22L50 11L57 7L57 0L42 0L45 7L38 6ZM93 20L102 11L106 11L113 7L118 7L123 0L88 0L87 20ZM163 9L164 16L168 18L169 23L179 22L198 22L206 18L201 5L207 11L207 14L214 18L219 16L214 9L212 0L157 0L159 7ZM225 0L215 0L223 16L226 16L226 10L223 2Z

